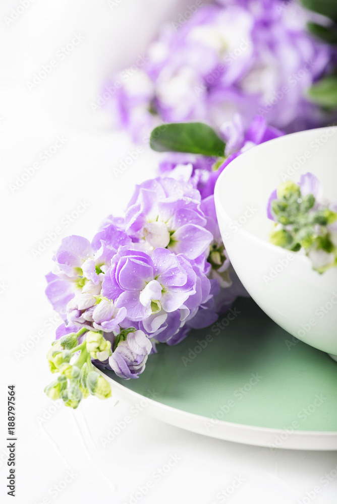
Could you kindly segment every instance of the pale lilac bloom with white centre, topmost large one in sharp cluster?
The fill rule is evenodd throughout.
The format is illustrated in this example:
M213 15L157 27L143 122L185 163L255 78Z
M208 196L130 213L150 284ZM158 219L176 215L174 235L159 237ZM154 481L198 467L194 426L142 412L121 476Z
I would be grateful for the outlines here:
M173 178L155 178L137 185L125 217L126 232L150 249L167 247L195 259L205 252L212 235L204 228L200 193Z

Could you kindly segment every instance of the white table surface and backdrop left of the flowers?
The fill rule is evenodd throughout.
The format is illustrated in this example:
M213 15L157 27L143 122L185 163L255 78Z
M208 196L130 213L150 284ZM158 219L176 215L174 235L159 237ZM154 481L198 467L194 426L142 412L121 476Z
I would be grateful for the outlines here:
M114 8L102 0L68 3L36 0L10 26L4 17L20 4L1 6L1 502L336 502L335 452L271 451L223 442L152 419L146 408L135 414L132 404L117 397L88 398L73 411L43 393L52 379L45 354L59 324L44 296L53 250L69 234L91 238L105 216L122 213L134 184L151 176L157 159L145 151L117 178L113 168L133 147L126 136L110 131L104 112L93 114L89 104L109 68L132 64L158 22L175 20L182 9L178 0L122 0ZM85 34L83 44L28 91L26 81L77 32ZM58 152L47 162L40 159L40 168L11 190L17 175L58 136L65 139ZM80 202L86 209L71 217ZM57 227L57 238L34 257L39 241ZM6 489L6 393L12 384L17 392L15 500ZM127 425L126 416L131 418ZM121 432L108 440L118 426Z

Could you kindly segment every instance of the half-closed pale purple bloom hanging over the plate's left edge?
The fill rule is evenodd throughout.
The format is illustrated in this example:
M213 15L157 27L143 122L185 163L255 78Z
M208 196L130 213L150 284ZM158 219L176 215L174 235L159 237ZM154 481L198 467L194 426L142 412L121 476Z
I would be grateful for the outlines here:
M145 369L151 350L152 344L143 331L131 332L109 357L109 365L120 378L138 378Z

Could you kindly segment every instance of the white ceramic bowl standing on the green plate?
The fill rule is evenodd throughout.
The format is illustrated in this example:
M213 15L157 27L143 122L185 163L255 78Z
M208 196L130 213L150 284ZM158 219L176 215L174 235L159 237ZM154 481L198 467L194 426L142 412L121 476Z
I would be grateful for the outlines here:
M337 201L337 127L280 137L253 147L223 170L215 206L231 262L252 298L297 339L337 355L337 268L320 275L301 253L268 242L270 193L286 176L312 172Z

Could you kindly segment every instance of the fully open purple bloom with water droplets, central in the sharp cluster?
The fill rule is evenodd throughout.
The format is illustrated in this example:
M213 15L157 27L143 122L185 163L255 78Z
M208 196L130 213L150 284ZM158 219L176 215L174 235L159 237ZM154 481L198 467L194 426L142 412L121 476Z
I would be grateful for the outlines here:
M102 295L127 309L131 321L145 321L179 309L195 293L196 274L182 255L155 248L152 256L119 248L102 283ZM164 313L165 315L165 313Z

